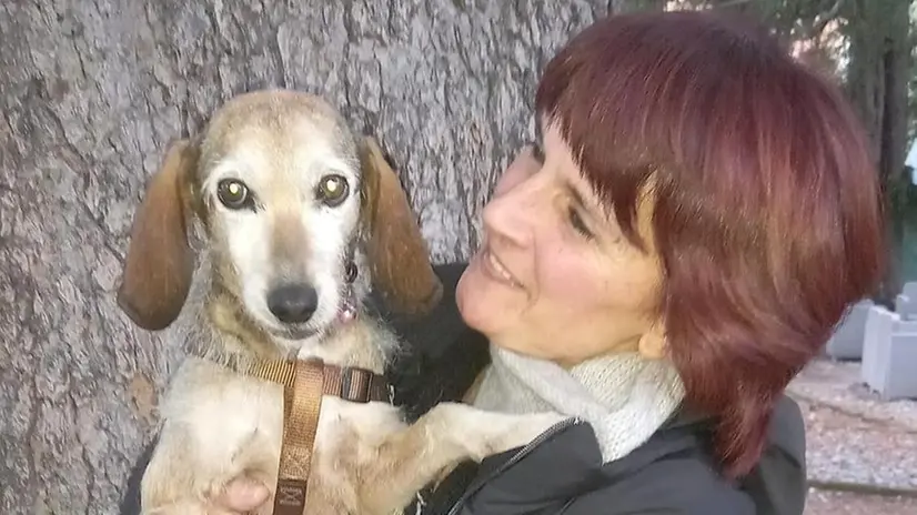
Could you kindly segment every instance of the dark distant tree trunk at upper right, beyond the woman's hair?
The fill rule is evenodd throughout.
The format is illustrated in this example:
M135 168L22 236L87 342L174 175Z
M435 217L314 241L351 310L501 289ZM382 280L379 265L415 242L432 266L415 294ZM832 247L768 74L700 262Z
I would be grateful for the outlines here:
M887 193L903 180L907 154L907 84L910 72L908 0L848 0L850 41L847 92L869 135ZM894 208L894 206L893 206ZM896 211L896 210L895 210ZM891 212L889 269L878 300L894 301L901 289L905 225Z

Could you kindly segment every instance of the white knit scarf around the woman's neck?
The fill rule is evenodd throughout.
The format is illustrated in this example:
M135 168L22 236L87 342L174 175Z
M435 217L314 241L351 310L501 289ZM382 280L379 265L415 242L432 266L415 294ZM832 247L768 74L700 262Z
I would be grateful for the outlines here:
M580 417L593 426L605 463L646 442L684 398L684 384L671 362L637 353L597 357L570 370L494 345L491 357L475 406Z

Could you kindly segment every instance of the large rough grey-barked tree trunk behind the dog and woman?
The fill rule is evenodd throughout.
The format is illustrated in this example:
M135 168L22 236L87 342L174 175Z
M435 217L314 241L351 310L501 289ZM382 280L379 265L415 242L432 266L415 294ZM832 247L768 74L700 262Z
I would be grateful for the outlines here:
M177 360L115 306L167 143L230 95L318 91L396 164L436 262L464 259L532 134L538 71L609 2L0 4L0 513L114 513Z

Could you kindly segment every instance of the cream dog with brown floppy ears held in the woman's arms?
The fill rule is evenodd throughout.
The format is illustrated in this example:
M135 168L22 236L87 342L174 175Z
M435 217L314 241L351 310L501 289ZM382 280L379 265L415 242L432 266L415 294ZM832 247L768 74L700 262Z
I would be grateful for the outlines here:
M142 512L208 513L236 477L278 497L283 386L238 370L320 359L382 374L399 341L364 310L372 289L409 314L442 295L397 175L321 95L243 93L172 143L134 214L118 291L134 324L188 351L160 406ZM305 513L401 513L443 471L563 420L441 403L409 424L385 400L325 394Z

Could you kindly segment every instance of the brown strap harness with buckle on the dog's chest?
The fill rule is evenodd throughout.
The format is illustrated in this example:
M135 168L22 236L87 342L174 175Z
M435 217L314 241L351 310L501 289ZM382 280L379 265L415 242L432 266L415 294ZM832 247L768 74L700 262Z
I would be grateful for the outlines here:
M341 367L321 360L263 361L243 373L283 385L283 444L273 513L302 515L322 395L356 403L387 403L389 382L365 368Z

